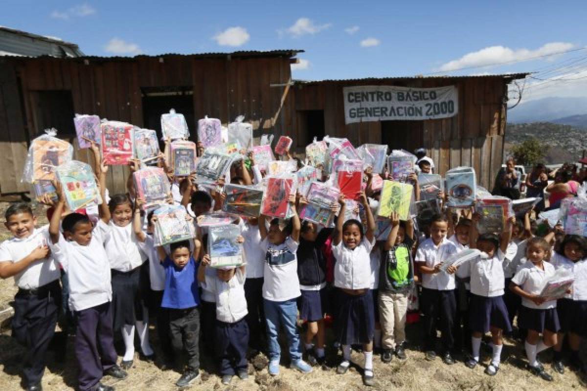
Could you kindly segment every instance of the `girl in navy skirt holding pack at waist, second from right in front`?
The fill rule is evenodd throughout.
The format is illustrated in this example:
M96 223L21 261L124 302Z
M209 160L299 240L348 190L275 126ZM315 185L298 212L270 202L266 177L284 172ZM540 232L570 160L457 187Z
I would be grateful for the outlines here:
M554 266L545 261L550 250L550 244L542 237L529 239L526 248L528 261L518 268L510 289L522 297L518 327L528 330L525 343L528 369L534 375L552 382L552 376L545 372L537 359L538 353L556 345L556 333L561 328L556 314L556 300L540 296L546 280L555 274Z

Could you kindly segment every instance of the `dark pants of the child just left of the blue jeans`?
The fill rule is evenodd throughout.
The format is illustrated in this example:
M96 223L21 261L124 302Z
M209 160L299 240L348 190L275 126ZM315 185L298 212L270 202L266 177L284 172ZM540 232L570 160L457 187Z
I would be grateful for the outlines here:
M249 345L258 351L264 350L267 335L265 310L263 308L263 277L245 280L245 299L247 300Z

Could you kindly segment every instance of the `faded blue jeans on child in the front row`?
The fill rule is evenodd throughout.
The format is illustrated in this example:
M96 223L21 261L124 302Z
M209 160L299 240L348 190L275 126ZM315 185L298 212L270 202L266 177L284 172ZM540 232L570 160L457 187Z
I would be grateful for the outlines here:
M283 325L289 342L289 358L292 362L302 358L302 350L299 346L299 334L296 328L298 318L298 305L296 299L287 301L263 300L265 318L267 319L267 334L269 336L269 360L279 361L281 348L277 333L279 324Z

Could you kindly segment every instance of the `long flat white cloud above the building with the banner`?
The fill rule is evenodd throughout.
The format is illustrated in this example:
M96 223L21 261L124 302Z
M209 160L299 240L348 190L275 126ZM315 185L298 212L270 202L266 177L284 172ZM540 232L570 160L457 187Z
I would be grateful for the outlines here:
M510 49L505 46L489 46L477 52L467 53L458 60L452 60L440 66L441 71L453 71L470 67L492 66L505 62L521 62L538 56L556 55L574 47L572 43L551 42L535 50Z

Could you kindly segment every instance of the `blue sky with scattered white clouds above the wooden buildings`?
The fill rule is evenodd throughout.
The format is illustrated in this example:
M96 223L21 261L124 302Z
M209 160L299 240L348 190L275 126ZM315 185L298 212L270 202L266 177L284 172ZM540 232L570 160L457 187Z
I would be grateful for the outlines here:
M0 25L75 42L87 55L304 49L296 79L542 70L548 83L528 80L525 98L587 95L584 1L1 4Z

